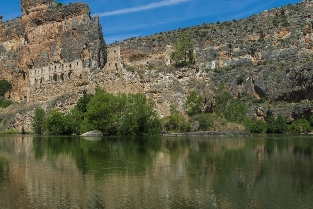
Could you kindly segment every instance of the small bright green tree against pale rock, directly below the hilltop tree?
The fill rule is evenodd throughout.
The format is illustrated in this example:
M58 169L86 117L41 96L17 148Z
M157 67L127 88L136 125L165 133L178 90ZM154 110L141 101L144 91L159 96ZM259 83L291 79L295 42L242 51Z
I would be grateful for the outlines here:
M190 95L187 96L187 101L185 102L188 115L202 112L203 104L204 99L202 96L198 96L196 91L190 92Z

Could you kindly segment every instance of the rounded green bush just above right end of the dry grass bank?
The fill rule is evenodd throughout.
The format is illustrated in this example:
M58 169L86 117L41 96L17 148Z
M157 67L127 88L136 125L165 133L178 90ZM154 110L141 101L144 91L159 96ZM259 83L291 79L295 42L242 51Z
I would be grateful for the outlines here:
M245 104L240 104L239 102L233 102L228 105L224 111L226 119L230 122L241 122L245 114L248 112Z

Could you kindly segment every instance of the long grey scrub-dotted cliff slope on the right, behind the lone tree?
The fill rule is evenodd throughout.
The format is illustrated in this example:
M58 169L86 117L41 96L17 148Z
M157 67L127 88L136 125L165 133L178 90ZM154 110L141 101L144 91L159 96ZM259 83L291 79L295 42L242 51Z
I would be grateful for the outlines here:
M113 45L121 47L128 67L164 66L170 63L172 43L181 32L189 33L194 40L197 65L206 70L206 76L215 86L224 82L233 97L238 92L256 98L267 96L274 102L288 102L282 103L294 108L292 103L313 100L312 11L313 3L303 1L240 20L179 28ZM243 81L238 82L239 77ZM269 106L273 108L273 104ZM264 110L260 116L258 105L249 108L252 108L251 116L265 120L275 112L265 114L269 107L260 107ZM291 117L288 114L284 116ZM293 115L294 119L298 118L297 114Z

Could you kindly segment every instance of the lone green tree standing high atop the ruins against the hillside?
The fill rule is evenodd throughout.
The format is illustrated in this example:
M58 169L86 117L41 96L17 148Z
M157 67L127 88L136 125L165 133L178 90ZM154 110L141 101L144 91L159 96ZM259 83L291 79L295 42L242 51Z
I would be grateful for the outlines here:
M191 37L183 32L178 40L173 43L174 51L170 54L171 59L177 66L187 66L194 62L196 55L193 53L193 42ZM187 62L187 58L189 62ZM184 60L184 61L182 61Z

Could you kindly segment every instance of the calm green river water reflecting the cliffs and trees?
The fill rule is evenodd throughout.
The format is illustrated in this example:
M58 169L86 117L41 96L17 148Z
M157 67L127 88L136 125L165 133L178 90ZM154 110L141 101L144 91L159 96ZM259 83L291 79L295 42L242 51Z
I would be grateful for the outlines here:
M0 208L313 208L313 136L0 135Z

